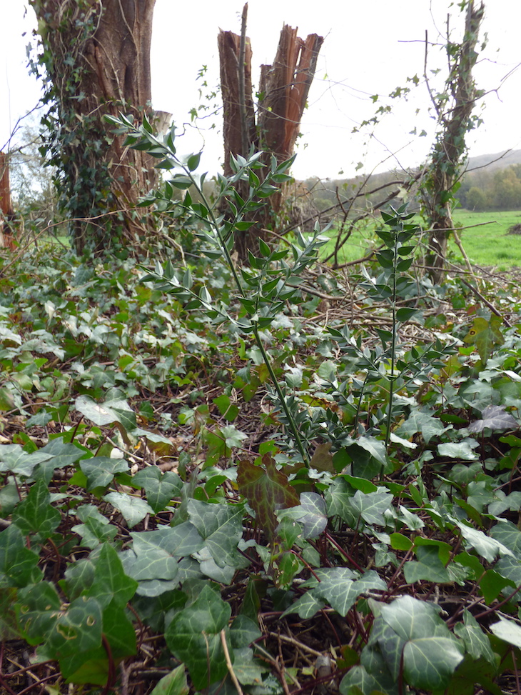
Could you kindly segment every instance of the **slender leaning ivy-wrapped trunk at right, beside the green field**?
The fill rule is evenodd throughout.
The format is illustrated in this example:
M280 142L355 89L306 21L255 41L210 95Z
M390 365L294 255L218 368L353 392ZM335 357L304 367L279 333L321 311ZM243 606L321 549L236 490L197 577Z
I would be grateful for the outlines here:
M453 194L467 151L465 136L476 125L477 117L472 117L472 110L480 94L472 77L472 69L477 60L476 45L484 6L480 4L479 7L475 7L474 0L468 0L462 9L467 13L465 36L460 44L452 43L447 36L450 74L445 83L444 94L433 96L441 127L433 146L428 177L423 189L424 209L430 229L426 261L428 272L435 284L442 278L447 241L450 231L454 228Z

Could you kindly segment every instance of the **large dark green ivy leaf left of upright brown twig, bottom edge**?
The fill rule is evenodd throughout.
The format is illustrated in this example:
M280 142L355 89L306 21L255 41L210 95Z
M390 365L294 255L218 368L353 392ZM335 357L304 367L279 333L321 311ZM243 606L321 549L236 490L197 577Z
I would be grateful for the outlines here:
M206 689L228 673L221 642L221 630L229 641L228 621L231 606L209 586L204 586L198 599L179 611L166 629L168 649L190 671L193 686ZM233 650L228 646L233 659Z

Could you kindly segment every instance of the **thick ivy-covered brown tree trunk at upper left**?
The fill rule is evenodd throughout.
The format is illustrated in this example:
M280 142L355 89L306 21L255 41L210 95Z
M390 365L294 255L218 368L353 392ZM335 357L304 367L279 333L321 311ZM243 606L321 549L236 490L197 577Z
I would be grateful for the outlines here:
M151 111L150 47L156 0L30 0L44 67L46 149L76 250L141 246L132 210L156 182L153 158L124 149L105 114Z

